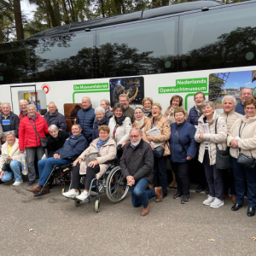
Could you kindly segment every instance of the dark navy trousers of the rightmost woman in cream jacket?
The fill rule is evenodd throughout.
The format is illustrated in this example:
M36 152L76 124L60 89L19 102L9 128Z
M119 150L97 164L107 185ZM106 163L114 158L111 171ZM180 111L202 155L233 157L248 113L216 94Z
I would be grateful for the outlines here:
M245 181L247 181L248 207L256 207L256 167L253 169L241 166L232 157L232 167L235 178L236 203L243 204Z

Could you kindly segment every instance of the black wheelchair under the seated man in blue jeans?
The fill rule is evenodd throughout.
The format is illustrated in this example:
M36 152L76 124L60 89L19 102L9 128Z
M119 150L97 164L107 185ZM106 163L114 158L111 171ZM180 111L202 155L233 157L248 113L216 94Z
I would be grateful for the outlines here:
M49 189L55 186L57 184L57 180L61 182L61 191L62 193L64 193L67 183L71 182L71 171L73 168L73 161L76 159L77 159L77 156L73 156L68 158L68 160L72 160L71 163L65 164L62 166L57 166L57 165L53 166L46 182L44 183L43 188L41 189L40 192L35 193L34 197L44 195L44 189L47 186L49 186Z

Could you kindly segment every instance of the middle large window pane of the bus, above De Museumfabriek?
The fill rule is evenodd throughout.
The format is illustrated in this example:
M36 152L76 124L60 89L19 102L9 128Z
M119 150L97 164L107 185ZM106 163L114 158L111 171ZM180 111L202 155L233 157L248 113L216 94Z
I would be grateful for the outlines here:
M177 72L177 17L96 31L99 78Z

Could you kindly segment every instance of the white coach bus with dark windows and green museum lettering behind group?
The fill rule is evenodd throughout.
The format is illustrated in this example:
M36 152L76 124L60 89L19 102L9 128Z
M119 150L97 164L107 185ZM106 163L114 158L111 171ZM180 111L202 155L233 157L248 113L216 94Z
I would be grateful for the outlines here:
M126 15L58 26L0 44L0 101L19 113L35 102L44 115L55 102L67 123L90 96L130 106L148 96L163 111L174 94L183 108L204 92L221 112L221 99L256 88L256 1L179 3Z

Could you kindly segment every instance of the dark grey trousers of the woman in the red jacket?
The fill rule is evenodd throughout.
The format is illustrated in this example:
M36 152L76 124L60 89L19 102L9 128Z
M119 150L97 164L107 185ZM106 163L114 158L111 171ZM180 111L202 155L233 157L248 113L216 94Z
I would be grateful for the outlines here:
M26 148L27 177L29 181L34 181L36 179L36 171L35 171L35 164L34 164L36 152L38 155L38 160L41 160L44 155L44 148L42 147Z

